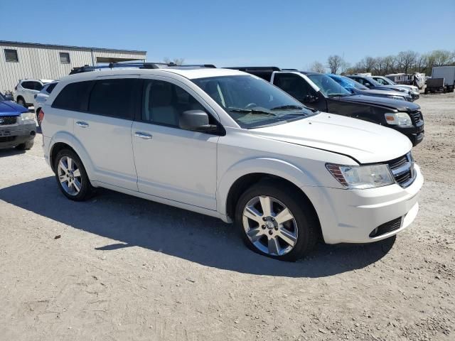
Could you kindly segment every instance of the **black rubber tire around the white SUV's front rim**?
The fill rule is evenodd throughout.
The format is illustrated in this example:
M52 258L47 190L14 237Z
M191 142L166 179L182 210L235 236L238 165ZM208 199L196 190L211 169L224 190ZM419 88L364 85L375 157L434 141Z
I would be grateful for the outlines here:
M287 254L268 254L259 250L247 237L243 227L243 210L250 200L257 196L266 195L282 202L291 211L298 227L298 235L294 247ZM296 261L309 254L314 249L319 238L319 220L311 207L311 203L297 190L276 180L264 180L245 190L235 207L235 224L243 241L252 251L269 256L280 261Z

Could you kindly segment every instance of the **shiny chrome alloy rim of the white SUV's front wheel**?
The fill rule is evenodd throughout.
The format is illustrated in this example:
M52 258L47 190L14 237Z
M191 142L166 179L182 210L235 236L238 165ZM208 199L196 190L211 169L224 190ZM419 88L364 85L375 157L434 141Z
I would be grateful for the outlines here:
M297 242L299 229L294 215L274 197L253 197L245 205L242 222L250 242L265 254L282 256Z

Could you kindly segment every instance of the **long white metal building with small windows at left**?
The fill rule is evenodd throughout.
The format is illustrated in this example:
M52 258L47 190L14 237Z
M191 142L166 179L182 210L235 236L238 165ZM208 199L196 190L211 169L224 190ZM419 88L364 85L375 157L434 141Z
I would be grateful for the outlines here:
M86 48L0 40L0 92L19 80L58 80L73 67L126 60L146 60L146 51Z

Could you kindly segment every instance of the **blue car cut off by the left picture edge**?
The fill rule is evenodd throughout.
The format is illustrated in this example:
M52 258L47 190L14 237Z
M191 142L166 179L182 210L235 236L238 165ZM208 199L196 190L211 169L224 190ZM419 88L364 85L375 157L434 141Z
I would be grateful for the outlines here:
M0 93L0 148L28 150L35 136L35 114Z

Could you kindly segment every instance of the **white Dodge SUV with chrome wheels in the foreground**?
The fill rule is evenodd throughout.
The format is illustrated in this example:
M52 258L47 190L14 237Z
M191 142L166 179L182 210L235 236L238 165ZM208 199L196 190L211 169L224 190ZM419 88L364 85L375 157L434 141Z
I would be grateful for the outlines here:
M103 187L218 217L273 258L299 259L320 236L385 239L419 209L406 136L311 111L237 70L71 75L41 113L45 159L69 199Z

